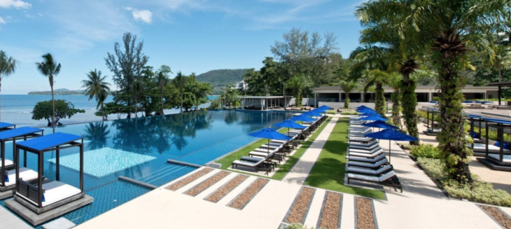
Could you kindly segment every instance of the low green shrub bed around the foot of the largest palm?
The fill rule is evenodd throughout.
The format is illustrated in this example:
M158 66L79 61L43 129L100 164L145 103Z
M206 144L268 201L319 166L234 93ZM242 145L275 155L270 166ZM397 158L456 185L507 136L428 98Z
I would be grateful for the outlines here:
M444 165L441 164L440 160L419 158L417 163L451 197L483 204L511 207L511 195L509 193L504 190L494 189L491 183L483 181L475 174L472 174L472 183L458 183L457 181L446 179Z

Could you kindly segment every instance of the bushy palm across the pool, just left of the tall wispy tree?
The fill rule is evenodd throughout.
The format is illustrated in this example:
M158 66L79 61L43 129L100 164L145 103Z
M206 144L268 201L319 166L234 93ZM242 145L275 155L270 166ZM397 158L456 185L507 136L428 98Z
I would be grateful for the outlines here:
M82 88L85 88L85 95L89 96L89 100L96 97L98 106L101 106L102 120L105 120L104 106L107 95L110 92L110 83L105 82L106 76L102 77L102 72L90 71L87 74L87 80L82 81Z

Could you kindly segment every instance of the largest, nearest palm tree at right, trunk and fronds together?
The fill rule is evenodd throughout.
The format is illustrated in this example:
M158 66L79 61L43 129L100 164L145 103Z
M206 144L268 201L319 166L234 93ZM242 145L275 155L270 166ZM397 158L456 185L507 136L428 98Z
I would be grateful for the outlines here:
M459 182L472 181L468 167L465 116L463 116L464 78L460 71L470 66L471 48L489 51L483 34L502 31L503 18L510 14L509 0L378 0L365 4L367 15L376 15L398 29L407 48L432 50L440 88L442 131L437 136L442 160L449 176Z

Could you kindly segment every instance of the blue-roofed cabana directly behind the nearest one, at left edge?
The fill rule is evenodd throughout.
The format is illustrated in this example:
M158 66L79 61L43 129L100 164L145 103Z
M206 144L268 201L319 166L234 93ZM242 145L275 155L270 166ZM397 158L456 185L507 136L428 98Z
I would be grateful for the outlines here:
M43 135L44 130L36 129L32 127L21 127L13 130L6 130L0 132L0 149L1 149L1 174L5 174L5 176L0 176L0 200L5 199L6 197L11 197L13 192L11 189L15 188L15 162L8 160L6 158L6 142L13 141L13 160L16 158L15 156L15 144L16 140L27 140L34 137L41 137ZM25 151L24 163L23 167L20 168L20 176L24 181L31 181L33 179L37 179L37 172L32 169L27 168L27 151Z

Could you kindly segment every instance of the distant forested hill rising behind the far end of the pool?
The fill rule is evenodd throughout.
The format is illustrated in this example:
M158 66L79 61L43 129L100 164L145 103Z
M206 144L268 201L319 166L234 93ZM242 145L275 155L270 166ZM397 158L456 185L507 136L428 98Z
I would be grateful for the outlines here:
M219 69L197 76L197 81L211 83L214 95L221 94L224 86L230 86L243 80L248 69Z

